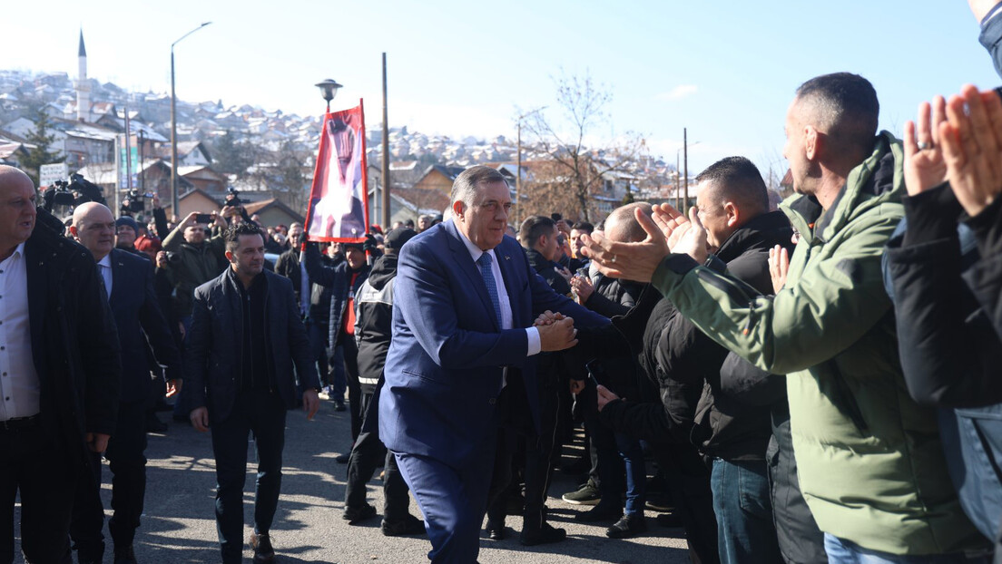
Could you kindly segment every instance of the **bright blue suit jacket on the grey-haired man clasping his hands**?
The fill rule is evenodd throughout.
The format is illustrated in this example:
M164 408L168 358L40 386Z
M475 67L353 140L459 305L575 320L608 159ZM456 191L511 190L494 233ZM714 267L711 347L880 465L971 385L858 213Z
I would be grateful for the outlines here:
M494 252L511 302L511 330L498 327L480 269L451 220L401 249L379 406L380 438L390 450L466 466L493 432L505 368L521 369L538 421L536 362L526 357L525 328L546 310L573 318L575 327L608 323L554 293L514 238L505 236Z

